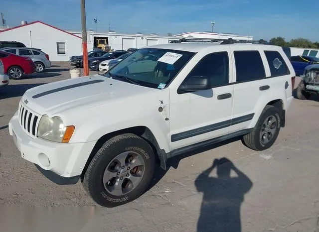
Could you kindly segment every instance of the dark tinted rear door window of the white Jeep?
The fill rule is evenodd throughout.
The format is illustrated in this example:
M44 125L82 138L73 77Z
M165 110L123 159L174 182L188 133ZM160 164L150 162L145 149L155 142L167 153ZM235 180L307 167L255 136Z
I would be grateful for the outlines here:
M266 77L259 51L234 51L236 82L254 81Z

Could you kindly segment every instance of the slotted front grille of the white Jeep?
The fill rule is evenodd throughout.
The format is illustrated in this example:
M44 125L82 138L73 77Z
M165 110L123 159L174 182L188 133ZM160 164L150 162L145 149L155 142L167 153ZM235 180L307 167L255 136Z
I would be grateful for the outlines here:
M39 116L23 106L21 102L19 104L19 122L27 135L32 138L36 137Z

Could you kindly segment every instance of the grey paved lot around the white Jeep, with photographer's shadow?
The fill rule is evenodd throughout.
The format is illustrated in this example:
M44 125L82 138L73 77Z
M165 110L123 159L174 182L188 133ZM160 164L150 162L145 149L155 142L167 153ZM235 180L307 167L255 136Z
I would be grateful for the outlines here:
M53 65L45 73L11 80L0 89L0 206L80 206L87 210L86 215L97 213L96 221L91 220L82 231L96 227L95 231L196 231L203 227L212 231L218 222L224 228L227 225L222 231L231 232L240 228L248 232L319 232L318 98L294 100L286 127L267 151L253 152L232 140L196 155L185 154L171 160L172 167L166 173L159 169L153 187L136 201L113 209L91 208L95 204L80 182L73 186L50 182L20 157L8 134L8 121L27 89L70 77L67 62ZM222 157L232 161L242 174L228 182L213 178L214 171L209 178L200 175L214 159ZM12 230L16 223L0 218L1 225L11 228L7 231L18 231ZM75 227L70 221L73 230L68 231L80 231L86 224L82 219L80 222Z

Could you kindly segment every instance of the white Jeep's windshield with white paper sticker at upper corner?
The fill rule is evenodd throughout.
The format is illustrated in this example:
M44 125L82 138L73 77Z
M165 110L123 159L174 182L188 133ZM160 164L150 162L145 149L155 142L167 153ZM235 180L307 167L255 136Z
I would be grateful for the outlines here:
M143 48L132 53L104 76L163 89L194 55L193 52Z

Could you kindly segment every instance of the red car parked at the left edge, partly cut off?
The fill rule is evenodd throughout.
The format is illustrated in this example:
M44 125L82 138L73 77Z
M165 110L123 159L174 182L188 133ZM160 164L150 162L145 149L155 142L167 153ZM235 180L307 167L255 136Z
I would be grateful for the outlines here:
M12 53L0 51L0 60L4 66L4 73L10 79L20 79L23 74L36 72L36 66L28 57L17 56Z

